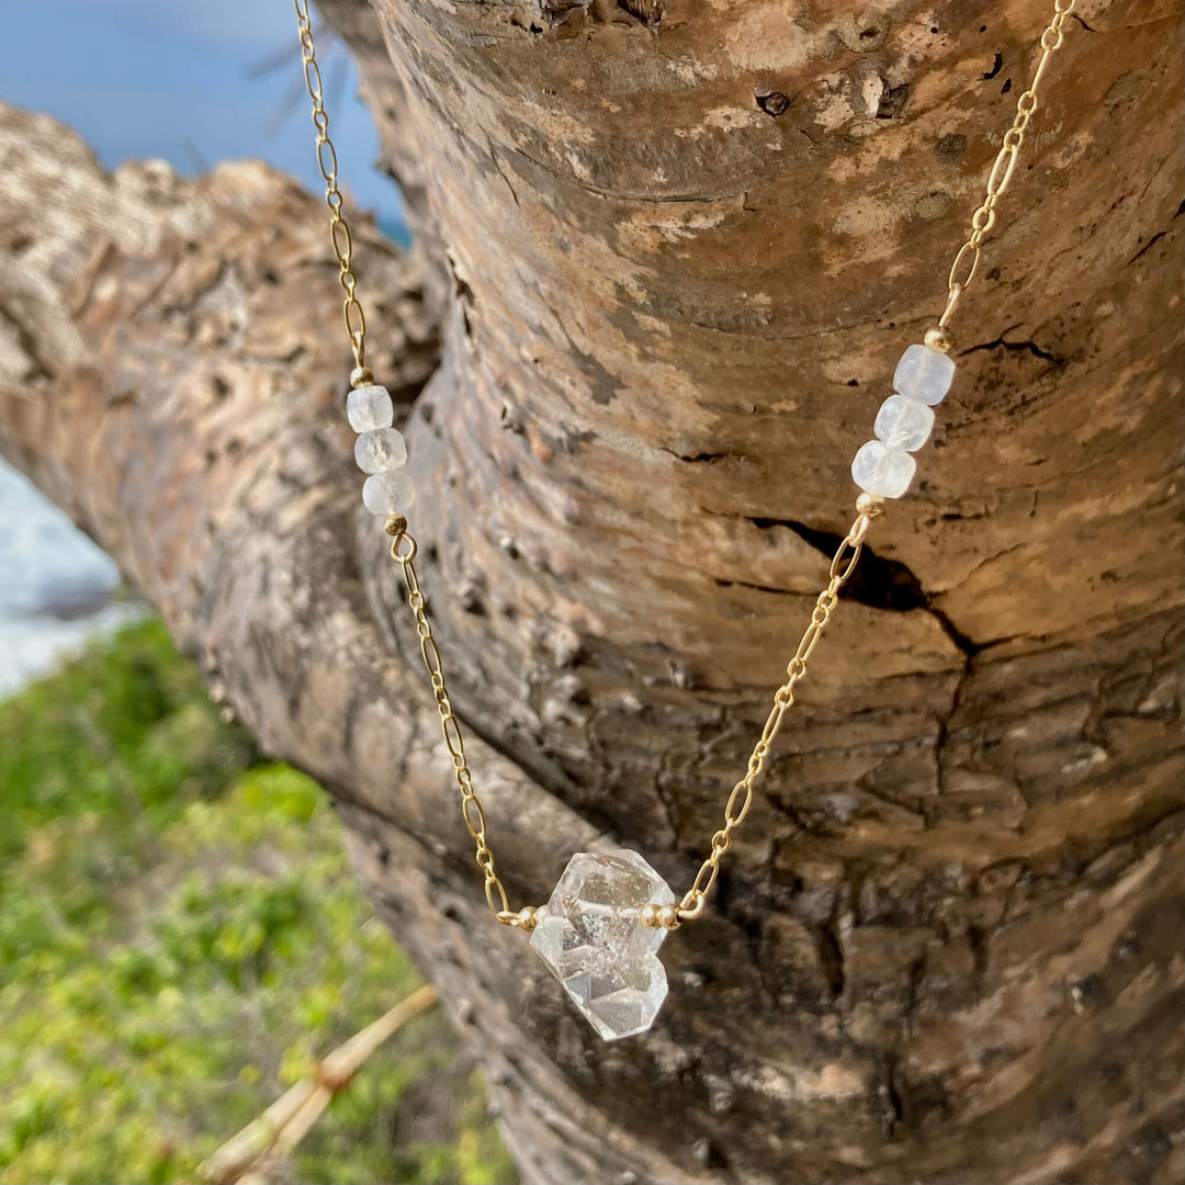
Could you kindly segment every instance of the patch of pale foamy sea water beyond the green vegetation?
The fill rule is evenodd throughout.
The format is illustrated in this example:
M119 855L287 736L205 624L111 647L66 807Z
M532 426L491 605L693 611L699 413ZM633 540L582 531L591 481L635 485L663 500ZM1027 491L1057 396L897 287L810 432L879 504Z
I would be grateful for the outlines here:
M0 461L0 698L147 611L114 561Z

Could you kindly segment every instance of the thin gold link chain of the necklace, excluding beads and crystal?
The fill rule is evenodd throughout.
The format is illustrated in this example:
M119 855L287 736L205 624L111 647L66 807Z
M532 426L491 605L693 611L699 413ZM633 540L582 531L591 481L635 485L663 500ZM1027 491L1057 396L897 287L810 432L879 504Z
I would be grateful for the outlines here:
M313 46L313 28L309 21L308 0L294 0L294 4L300 26L305 82L313 100L313 126L316 128L316 161L321 169L321 175L325 178L325 200L333 216L329 222L329 237L340 267L341 287L346 294L344 305L346 332L350 335L356 363L356 371L352 379L356 384L369 383L371 376L365 370L366 319L363 314L363 307L354 294L357 283L351 269L353 243L350 236L350 226L341 212L342 199L338 190L338 156L329 140L329 118L325 113L322 101L321 72L316 65L316 56ZM988 173L986 196L982 204L972 214L971 233L959 249L954 263L950 265L950 274L947 281L947 305L942 316L939 319L937 328L931 329L927 334L928 342L931 334L937 334L937 338L934 340L940 348L949 348L952 339L947 329L947 322L954 314L963 292L966 292L975 277L979 267L980 246L995 223L997 201L1012 180L1020 146L1025 142L1029 122L1032 118L1033 111L1037 110L1037 88L1050 56L1062 45L1064 25L1074 9L1074 5L1075 0L1053 0L1053 18L1040 37L1042 56L1033 72L1032 82L1029 84L1029 89L1023 91L1017 100L1016 118L1012 121L1012 127L1005 133L1000 150ZM643 910L643 917L648 924L674 929L681 922L691 921L703 915L707 896L719 876L720 860L732 846L732 833L744 822L745 816L749 814L749 808L752 806L754 786L766 768L766 758L769 756L774 739L782 726L786 712L794 704L794 688L807 673L807 662L814 653L824 629L827 628L832 614L839 606L839 590L847 583L856 570L869 525L879 513L880 499L870 494L861 494L857 499L856 520L852 523L851 529L832 558L827 585L815 598L815 606L811 614L811 623L802 634L794 656L786 666L786 680L774 692L773 707L766 718L761 736L754 745L752 752L749 755L744 776L732 787L732 792L724 805L724 826L712 835L709 856L699 866L691 888L684 893L679 904L677 907L665 905L661 909L648 907L647 910ZM465 755L465 737L461 732L460 722L453 711L453 703L449 699L444 678L444 665L433 635L431 622L428 619L425 597L419 588L419 577L415 565L417 552L416 540L408 531L406 519L401 514L389 515L385 521L385 529L393 537L391 556L398 561L403 569L403 579L408 590L408 604L416 620L419 652L431 681L433 692L436 696L436 706L441 718L441 732L443 734L449 755L453 758L456 783L461 790L461 814L469 834L473 837L475 844L474 859L478 863L478 867L481 869L485 879L486 902L489 905L491 912L504 925L531 930L537 922L537 908L529 905L517 912L512 910L506 896L506 889L495 871L494 853L489 847L486 831L486 813L473 786L473 775L469 771L469 764Z

